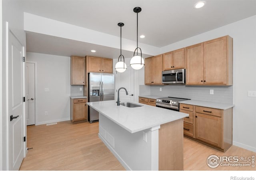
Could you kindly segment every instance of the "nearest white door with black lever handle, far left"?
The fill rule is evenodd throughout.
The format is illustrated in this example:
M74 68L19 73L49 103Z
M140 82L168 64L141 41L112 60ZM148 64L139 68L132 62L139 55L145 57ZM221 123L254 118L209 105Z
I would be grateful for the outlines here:
M9 33L8 109L9 109L9 170L19 170L24 158L24 47ZM13 118L12 118L13 117Z

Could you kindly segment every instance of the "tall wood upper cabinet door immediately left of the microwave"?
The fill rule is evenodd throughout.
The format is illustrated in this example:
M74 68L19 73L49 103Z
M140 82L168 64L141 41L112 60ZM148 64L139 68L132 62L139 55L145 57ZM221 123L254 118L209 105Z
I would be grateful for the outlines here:
M153 60L153 84L162 84L163 56L154 56Z

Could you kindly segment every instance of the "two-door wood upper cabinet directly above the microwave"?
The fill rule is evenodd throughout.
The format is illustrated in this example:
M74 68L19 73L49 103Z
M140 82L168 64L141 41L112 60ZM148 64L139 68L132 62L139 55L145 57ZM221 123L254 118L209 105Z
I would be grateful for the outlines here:
M163 71L185 68L185 48L163 54Z

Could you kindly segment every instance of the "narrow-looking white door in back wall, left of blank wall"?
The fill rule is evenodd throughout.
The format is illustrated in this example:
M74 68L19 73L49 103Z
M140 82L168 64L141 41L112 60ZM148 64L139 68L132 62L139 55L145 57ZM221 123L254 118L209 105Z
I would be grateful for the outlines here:
M27 110L26 121L27 126L35 124L35 64L26 62L26 80L27 80Z

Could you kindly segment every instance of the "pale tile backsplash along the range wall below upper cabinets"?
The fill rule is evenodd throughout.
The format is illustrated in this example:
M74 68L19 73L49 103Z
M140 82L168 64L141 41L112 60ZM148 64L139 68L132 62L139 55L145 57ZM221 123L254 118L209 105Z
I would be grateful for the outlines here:
M186 85L167 85L167 86L148 86L140 85L140 95L151 94L154 96L170 96L177 98L188 98L220 103L233 103L233 86L186 86ZM162 88L162 91L160 91ZM210 94L214 90L214 94ZM144 93L145 92L145 93Z

